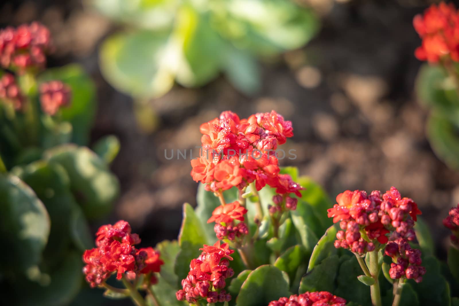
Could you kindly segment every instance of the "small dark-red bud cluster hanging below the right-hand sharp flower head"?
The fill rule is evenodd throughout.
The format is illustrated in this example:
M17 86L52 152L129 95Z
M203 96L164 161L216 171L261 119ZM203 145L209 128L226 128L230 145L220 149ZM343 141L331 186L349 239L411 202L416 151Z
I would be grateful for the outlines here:
M386 245L386 255L392 257L393 263L389 275L393 279L412 278L416 283L422 281L425 267L421 267L421 251L412 249L407 239L398 238Z

